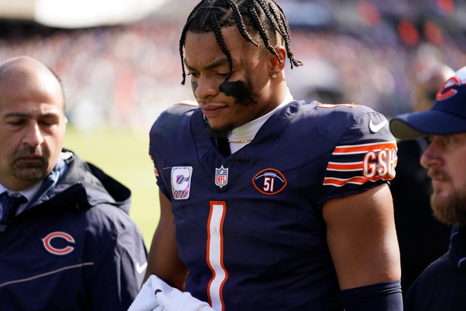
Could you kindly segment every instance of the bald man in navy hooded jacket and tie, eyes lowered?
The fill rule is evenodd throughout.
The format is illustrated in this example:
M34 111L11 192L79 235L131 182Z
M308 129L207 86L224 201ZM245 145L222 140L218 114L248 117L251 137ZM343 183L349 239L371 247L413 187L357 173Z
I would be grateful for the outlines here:
M0 65L1 310L127 310L142 283L131 192L62 149L64 108L44 64Z

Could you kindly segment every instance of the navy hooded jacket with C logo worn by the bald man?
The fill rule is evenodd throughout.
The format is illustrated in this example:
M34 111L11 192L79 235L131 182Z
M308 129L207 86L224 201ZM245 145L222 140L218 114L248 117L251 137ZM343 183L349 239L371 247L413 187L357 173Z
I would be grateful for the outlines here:
M67 152L57 185L0 235L0 310L127 310L146 249L131 192Z

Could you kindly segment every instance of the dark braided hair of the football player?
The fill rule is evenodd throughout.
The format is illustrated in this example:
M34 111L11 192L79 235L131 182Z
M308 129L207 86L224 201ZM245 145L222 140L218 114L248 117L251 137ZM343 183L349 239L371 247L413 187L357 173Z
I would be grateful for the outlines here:
M233 74L233 58L228 50L221 29L236 25L241 36L256 47L259 44L254 41L249 30L256 31L266 49L280 62L283 59L275 51L270 41L276 39L277 34L283 38L286 53L293 66L301 66L302 62L295 58L295 52L291 48L290 28L283 9L275 0L201 0L189 14L180 38L180 56L183 69L183 82L186 81L184 70L183 46L188 31L193 33L213 32L221 51L227 56L230 72L225 81Z

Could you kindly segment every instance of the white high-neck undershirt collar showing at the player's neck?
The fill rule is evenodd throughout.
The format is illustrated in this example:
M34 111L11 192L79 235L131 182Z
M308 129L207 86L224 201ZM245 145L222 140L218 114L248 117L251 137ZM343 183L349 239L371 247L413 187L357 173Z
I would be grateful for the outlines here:
M273 109L266 115L233 129L232 134L228 136L228 140L229 141L241 141L241 140L253 139L256 136L259 129L262 127L262 125L264 125L264 123L268 120L268 118L270 118L277 110L279 110L280 108L282 108L283 106L291 102L293 102L293 96L291 96L290 90L287 88L285 99L280 105L278 105L275 109ZM249 144L249 142L230 143L230 150L233 154L236 151L243 148L244 146L246 146L247 144Z

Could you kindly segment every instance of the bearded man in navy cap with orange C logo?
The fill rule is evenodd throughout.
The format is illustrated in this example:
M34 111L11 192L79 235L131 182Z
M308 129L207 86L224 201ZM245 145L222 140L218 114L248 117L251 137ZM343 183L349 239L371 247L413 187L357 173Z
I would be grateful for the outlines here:
M435 260L409 290L405 310L465 310L466 306L466 67L437 93L428 111L390 122L401 139L430 137L421 165L432 178L433 213L454 225L449 251Z

